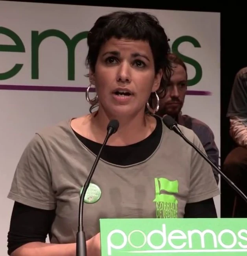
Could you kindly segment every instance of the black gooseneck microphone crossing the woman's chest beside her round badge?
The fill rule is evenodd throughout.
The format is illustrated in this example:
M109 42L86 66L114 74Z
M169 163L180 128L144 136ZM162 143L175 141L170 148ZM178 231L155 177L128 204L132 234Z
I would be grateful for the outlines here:
M76 234L76 256L87 256L87 246L86 246L86 236L83 229L83 205L84 205L84 199L85 195L88 189L88 186L90 184L90 181L92 179L92 176L94 174L94 171L96 169L96 166L98 164L98 161L100 160L100 155L102 152L103 147L105 147L109 137L111 137L112 134L114 134L119 127L119 122L116 119L113 119L109 122L107 126L107 135L105 137L105 140L100 148L100 151L98 155L96 156L96 159L94 161L94 164L92 166L92 169L88 175L88 178L83 186L81 196L80 196L80 202L79 202L79 221L78 221L78 231Z

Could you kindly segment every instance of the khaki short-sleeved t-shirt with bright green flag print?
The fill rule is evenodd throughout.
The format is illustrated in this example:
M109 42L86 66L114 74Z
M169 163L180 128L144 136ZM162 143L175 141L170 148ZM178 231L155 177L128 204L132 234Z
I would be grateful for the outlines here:
M205 153L192 130L179 128ZM182 218L186 203L219 195L210 165L179 135L164 124L162 129L159 146L145 161L124 167L99 161L92 177L96 193L84 206L87 239L100 232L100 218ZM51 243L76 242L79 193L95 157L70 120L35 134L24 150L8 198L56 209ZM99 200L90 202L97 192Z

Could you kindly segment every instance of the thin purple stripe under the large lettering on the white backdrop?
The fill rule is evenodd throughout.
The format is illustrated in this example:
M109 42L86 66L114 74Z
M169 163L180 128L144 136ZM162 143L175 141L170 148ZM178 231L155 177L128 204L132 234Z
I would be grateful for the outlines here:
M85 92L87 87L66 87L66 86L42 86L42 85L4 85L0 84L0 90L16 90L16 91L67 91L67 92ZM90 89L93 92L94 88ZM209 91L190 91L187 95L212 95Z

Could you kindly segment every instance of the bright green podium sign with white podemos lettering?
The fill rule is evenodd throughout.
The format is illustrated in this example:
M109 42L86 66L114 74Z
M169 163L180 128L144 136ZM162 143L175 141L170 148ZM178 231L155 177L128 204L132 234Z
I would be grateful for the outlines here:
M246 256L247 219L100 219L101 256Z

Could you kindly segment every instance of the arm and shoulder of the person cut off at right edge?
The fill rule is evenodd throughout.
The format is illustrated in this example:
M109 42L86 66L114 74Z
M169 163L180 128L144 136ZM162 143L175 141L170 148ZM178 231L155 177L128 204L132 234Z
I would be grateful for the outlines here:
M230 136L239 146L247 148L247 67L235 76L227 117Z

